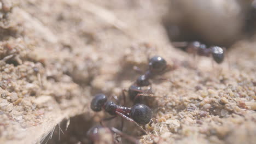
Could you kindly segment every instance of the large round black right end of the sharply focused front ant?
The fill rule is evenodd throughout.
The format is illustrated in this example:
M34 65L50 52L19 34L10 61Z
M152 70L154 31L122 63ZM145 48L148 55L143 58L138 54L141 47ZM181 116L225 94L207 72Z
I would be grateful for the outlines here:
M132 119L139 124L147 124L152 118L152 110L143 104L133 105L131 108Z

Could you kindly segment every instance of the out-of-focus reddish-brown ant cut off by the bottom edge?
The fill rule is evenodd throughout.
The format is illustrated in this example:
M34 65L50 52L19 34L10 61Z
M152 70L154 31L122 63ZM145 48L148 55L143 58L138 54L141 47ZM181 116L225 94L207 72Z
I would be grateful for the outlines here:
M86 136L89 139L89 143L120 143L114 140L114 134L118 134L125 139L131 141L132 143L138 144L138 140L133 138L132 136L124 134L122 131L114 128L114 127L104 127L101 125L97 125L95 127L90 128Z

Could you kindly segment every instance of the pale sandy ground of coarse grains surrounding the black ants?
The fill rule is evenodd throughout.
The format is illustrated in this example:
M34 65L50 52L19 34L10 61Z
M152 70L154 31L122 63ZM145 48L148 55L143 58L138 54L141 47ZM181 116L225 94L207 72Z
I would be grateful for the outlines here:
M147 70L154 55L178 67L152 80L163 98L148 100L149 135L128 121L124 133L141 143L255 142L256 40L237 19L247 3L195 1L214 6L203 13L185 0L0 2L0 143L87 143L86 131L108 117L90 110L93 95L121 95L139 76L132 67ZM162 24L170 21L229 45L224 63L174 48Z

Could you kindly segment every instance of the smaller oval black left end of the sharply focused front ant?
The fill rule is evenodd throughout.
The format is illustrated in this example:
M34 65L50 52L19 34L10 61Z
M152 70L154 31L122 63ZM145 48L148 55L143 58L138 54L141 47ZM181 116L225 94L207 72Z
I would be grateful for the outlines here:
M100 93L95 95L94 99L91 100L91 109L93 111L101 111L102 106L106 103L106 95Z

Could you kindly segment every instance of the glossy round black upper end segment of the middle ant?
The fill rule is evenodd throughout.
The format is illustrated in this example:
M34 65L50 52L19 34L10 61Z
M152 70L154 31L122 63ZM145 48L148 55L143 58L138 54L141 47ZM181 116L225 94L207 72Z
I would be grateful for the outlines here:
M160 56L154 56L149 59L149 70L156 74L163 71L167 64L164 58Z

